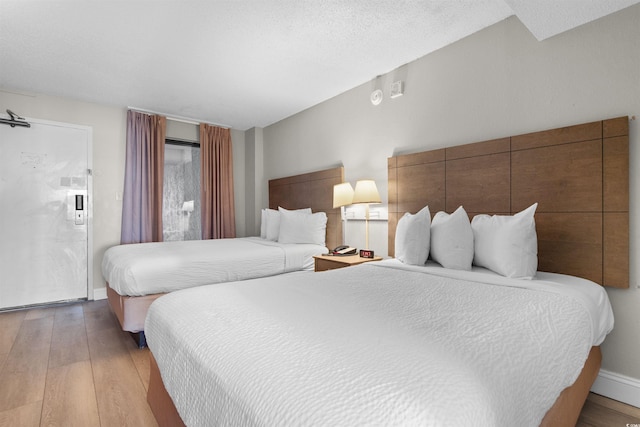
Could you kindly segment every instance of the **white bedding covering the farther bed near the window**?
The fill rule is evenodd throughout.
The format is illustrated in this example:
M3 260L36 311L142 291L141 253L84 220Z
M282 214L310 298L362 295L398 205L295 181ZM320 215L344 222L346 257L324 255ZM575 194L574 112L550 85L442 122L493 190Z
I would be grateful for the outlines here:
M120 295L140 296L193 286L313 270L327 248L245 237L114 246L102 275Z

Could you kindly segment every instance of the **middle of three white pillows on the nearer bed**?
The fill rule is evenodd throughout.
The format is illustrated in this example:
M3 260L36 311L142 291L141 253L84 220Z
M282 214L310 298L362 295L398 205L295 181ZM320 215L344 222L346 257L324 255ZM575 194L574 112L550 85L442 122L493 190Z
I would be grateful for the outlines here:
M471 270L473 231L462 206L451 215L438 212L431 221L431 258L444 268Z

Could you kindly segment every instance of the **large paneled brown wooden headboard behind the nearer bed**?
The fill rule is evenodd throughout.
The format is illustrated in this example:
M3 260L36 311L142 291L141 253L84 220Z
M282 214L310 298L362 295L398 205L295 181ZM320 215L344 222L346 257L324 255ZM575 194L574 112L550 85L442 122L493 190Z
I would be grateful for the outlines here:
M389 255L405 212L514 214L538 202L538 270L629 287L627 117L388 159Z

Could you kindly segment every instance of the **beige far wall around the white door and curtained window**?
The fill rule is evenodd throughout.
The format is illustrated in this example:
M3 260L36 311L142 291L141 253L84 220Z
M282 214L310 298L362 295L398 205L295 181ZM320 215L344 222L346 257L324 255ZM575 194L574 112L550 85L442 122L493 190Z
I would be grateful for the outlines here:
M0 111L7 108L23 117L51 120L93 129L93 287L105 287L101 273L104 251L120 243L122 193L126 146L126 116L124 107L110 107L68 98L34 94L0 88ZM197 126L184 123L169 125L170 136L197 139ZM195 130L195 132L194 132ZM238 236L244 236L244 132L231 131L236 183L236 224ZM104 291L104 289L102 289Z

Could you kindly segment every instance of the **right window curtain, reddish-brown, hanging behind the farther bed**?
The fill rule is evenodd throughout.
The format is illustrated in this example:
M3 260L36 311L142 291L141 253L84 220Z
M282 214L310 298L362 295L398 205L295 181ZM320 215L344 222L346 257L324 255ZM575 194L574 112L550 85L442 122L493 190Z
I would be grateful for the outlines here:
M231 131L200 124L202 239L236 237Z

